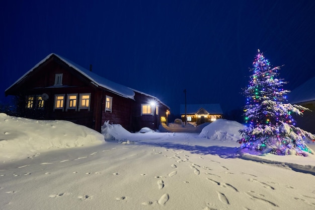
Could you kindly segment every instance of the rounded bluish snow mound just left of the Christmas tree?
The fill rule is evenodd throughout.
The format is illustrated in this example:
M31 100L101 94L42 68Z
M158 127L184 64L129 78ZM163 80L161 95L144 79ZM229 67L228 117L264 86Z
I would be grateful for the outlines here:
M244 129L245 125L226 119L217 119L209 125L205 126L199 134L199 137L208 138L211 140L237 141L242 136L239 133L240 129Z

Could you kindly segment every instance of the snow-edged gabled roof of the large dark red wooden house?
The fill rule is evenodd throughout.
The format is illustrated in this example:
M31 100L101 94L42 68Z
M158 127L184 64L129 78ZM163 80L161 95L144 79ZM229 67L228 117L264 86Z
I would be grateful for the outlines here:
M55 53L50 53L49 55L47 55L44 59L42 59L40 62L38 62L33 68L31 68L27 73L25 73L20 79L18 79L14 84L12 84L9 88L7 88L7 90L9 90L12 86L14 86L15 84L19 83L20 81L22 81L23 79L25 79L26 77L29 76L29 74L31 72L34 71L35 68L37 68L40 64L44 63L47 59L49 59L51 56L56 56L58 57L60 60L62 60L64 63L66 63L67 65L69 65L70 67L72 67L73 69L75 69L77 72L81 73L82 75L84 75L85 77L87 77L88 79L91 80L91 83L97 87L103 87L105 89L108 89L122 97L125 98L130 98L130 99L134 99L134 94L135 92L149 96L154 98L156 101L159 101L160 103L162 103L163 105L167 106L166 104L164 104L162 101L160 101L159 99L157 99L154 96L151 96L149 94L145 94L142 93L140 91L128 88L126 86L120 85L118 83L112 82L110 80L107 80L99 75L94 74L93 72L87 70L86 68L82 67L81 65L78 65L70 60L68 60L67 58L64 58L60 55L57 55ZM6 91L7 91L6 90ZM167 106L168 107L168 106ZM169 107L168 107L169 108Z

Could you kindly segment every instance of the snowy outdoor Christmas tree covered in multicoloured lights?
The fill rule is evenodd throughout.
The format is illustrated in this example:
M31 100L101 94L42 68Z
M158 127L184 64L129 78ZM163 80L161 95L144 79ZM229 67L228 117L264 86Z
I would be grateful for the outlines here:
M241 148L258 153L276 155L313 154L304 141L315 139L311 133L295 127L292 114L302 115L307 108L286 103L289 91L283 89L282 79L278 79L280 66L271 67L270 62L258 50L250 69L253 75L244 90L246 129L238 142Z

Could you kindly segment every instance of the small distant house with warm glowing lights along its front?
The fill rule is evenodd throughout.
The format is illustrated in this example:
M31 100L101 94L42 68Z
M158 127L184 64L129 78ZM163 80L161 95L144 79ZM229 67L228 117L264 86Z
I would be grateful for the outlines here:
M181 117L185 122L185 104L180 107ZM222 118L223 112L220 104L187 104L186 105L187 122L197 125L204 122L213 122Z

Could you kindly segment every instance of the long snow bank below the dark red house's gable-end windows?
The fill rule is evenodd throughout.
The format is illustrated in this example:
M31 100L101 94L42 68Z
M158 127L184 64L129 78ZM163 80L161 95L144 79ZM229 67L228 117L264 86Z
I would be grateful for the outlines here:
M1 159L26 158L47 150L104 143L101 133L63 120L32 120L0 113L0 128Z

